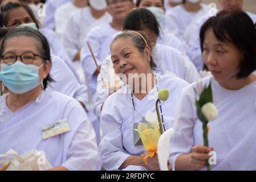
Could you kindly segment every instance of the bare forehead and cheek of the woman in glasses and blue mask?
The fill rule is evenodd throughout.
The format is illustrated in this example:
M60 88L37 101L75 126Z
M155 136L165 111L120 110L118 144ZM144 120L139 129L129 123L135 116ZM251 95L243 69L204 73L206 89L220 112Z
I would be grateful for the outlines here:
M38 43L36 43L36 40L34 38L18 36L7 40L3 55L6 55L7 53L13 53L14 55L22 55L23 53L34 53L35 55L40 55L44 57L44 55L40 54L39 49L40 46ZM17 61L21 61L21 57L18 57ZM43 64L43 59L41 57L35 56L35 60L31 64L40 67L40 65ZM50 62L46 61L43 67L39 68L39 82L42 82L42 80L47 77L49 72Z

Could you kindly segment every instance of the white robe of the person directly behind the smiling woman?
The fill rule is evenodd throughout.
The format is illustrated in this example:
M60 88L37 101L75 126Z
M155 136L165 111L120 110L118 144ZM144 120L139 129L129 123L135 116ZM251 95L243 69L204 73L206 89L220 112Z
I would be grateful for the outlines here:
M157 44L153 51L153 60L157 65L156 72L159 72L160 75L175 75L189 83L200 79L200 75L188 59L188 56L174 48ZM101 64L100 73L106 84L113 85L113 82L121 82L119 77L115 78L113 76L115 71L113 70L111 56L108 56ZM100 117L101 105L110 92L113 92L112 86L104 88L103 81L99 75L97 77L96 101L94 104L94 113L97 118Z

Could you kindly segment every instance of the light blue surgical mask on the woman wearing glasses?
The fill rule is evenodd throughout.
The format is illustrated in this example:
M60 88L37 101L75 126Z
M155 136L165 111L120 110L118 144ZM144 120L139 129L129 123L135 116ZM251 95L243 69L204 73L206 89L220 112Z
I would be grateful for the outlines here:
M38 71L40 67L34 64L24 64L16 61L14 64L1 64L0 80L13 93L26 93L38 86L40 83Z

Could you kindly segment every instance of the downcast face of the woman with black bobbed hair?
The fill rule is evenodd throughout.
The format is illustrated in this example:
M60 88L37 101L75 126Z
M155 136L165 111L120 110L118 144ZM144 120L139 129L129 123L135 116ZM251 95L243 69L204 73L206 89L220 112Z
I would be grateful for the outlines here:
M205 32L203 59L215 80L220 84L236 79L243 54L232 43L220 42L209 28Z

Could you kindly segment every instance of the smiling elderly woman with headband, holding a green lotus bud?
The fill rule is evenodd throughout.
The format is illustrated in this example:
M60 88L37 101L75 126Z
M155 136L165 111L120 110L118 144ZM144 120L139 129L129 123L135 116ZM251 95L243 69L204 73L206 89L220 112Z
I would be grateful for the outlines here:
M174 76L155 75L151 50L151 42L143 32L124 31L111 44L113 68L127 85L105 100L100 117L99 151L107 170L159 169L157 156L147 159L148 166L144 164L140 155L145 149L136 137L133 140L133 129L148 111L156 111L156 93L163 88L169 90L170 98L161 103L162 123L165 129L172 127L181 90L188 83ZM140 80L138 74L146 76L146 80Z

